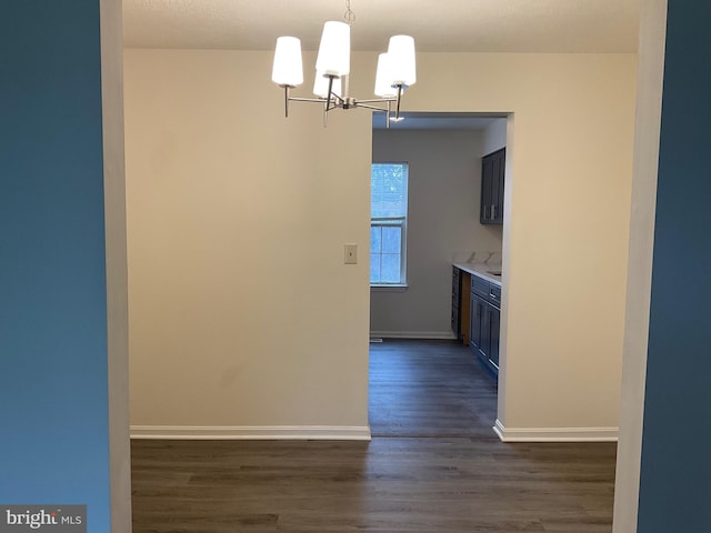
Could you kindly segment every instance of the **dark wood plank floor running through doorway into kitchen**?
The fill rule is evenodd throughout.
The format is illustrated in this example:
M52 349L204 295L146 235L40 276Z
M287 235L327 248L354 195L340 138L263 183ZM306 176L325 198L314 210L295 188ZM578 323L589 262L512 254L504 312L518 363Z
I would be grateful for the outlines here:
M370 418L370 443L133 441L133 531L612 529L614 444L499 442L468 349L371 344Z

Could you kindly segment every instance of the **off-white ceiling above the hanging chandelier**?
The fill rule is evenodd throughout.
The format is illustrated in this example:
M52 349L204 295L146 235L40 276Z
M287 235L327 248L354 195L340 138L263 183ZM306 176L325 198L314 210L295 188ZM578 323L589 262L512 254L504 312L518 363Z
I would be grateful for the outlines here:
M277 37L318 49L347 0L123 0L129 48L272 50ZM642 0L350 0L352 49L395 33L423 52L634 52Z

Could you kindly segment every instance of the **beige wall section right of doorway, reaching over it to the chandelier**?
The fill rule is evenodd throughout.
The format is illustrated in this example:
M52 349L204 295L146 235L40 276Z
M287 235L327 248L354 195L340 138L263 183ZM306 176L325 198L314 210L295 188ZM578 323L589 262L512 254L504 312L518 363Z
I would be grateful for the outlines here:
M501 423L512 438L617 429L635 56L421 54L419 66L408 109L514 113Z

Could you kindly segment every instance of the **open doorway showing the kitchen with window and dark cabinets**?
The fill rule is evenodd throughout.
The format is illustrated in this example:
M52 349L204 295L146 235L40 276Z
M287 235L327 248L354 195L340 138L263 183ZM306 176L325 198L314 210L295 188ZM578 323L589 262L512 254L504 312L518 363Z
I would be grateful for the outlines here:
M488 380L491 389L487 394L493 394L493 406L482 408L481 416L491 419L485 431L492 434L498 379L495 372L489 372L479 364L480 344L470 346L472 315L469 292L470 276L473 274L464 272L459 275L454 265L484 264L484 274L498 282L501 294L501 272L505 271L502 253L504 171L500 169L502 187L497 192L497 202L500 201L498 208L492 209L489 205L491 202L483 207L482 193L487 194L487 191L482 188L482 161L491 153L504 151L508 113L417 112L404 113L403 117L402 122L391 123L390 128L387 128L382 113L373 114L372 122L373 169L398 163L405 164L408 173L404 187L398 185L397 180L385 183L393 185L392 190L400 187L407 192L407 198L403 199L402 194L399 197L399 202L404 200L407 204L407 231L399 234L407 241L385 239L384 233L379 231L379 220L371 218L370 335L371 340L383 340L382 343L370 344L371 431L373 435L380 431L461 433L459 422L450 420L448 423L448 416L439 416L435 422L420 424L415 429L415 419L422 415L415 414L418 402L432 404L438 385L439 392L444 392L442 386L447 383L438 384L438 379L444 379L440 374L443 369L437 366L437 360L441 358L441 362L459 366L460 376L460 365L469 363L475 365L474 370ZM501 159L501 164L503 162L504 159ZM372 213L381 210L378 203L383 201L381 181L373 170ZM483 217L484 210L485 214L495 215ZM399 283L373 282L373 275L381 273L378 269L373 272L372 266L380 265L373 262L373 258L379 260L391 248L393 253L402 253ZM455 278L458 283L454 283ZM501 304L498 311L505 312L501 310ZM495 321L497 325L500 322ZM491 320L487 322L489 328L492 323ZM489 343L492 338L488 334ZM497 364L490 369L494 371L502 359L498 328L495 338ZM408 385L407 392L402 389L394 392L394 384L402 380L410 380L412 384ZM448 380L447 394L458 389L467 393L467 380L459 384L452 382L458 381L452 376ZM392 400L393 394L402 400L397 409L388 403L388 398ZM453 398L450 401L457 403ZM488 411L492 412L488 414ZM472 421L472 425L475 422Z

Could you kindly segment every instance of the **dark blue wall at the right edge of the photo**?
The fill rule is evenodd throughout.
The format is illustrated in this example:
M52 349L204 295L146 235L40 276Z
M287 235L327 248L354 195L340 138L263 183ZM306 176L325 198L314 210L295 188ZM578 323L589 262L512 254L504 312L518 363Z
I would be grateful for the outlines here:
M708 0L669 1L641 466L640 533L711 531Z

